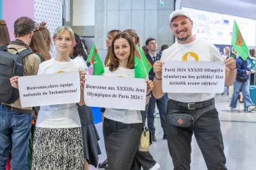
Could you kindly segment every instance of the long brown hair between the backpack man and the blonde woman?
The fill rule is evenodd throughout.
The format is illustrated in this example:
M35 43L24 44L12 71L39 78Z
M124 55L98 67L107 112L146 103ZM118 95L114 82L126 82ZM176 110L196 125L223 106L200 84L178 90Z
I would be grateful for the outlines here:
M40 31L34 32L31 38L30 48L32 52L38 52L42 56L43 60L51 59L46 42L44 42L44 38L42 38Z

